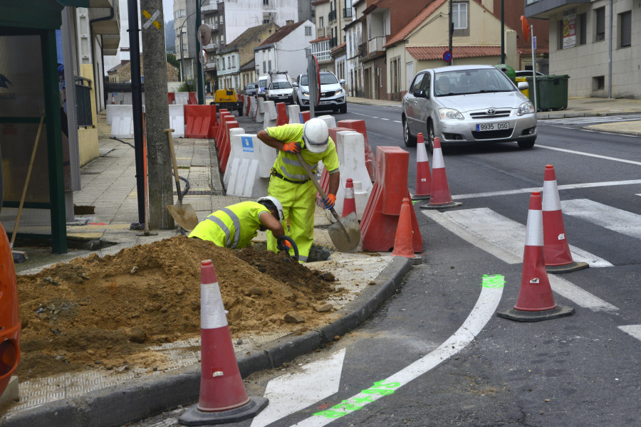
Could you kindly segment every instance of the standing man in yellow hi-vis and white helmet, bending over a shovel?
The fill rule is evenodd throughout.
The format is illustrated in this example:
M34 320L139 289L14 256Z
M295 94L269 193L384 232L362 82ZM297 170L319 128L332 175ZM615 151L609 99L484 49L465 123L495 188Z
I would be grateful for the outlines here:
M301 153L313 173L318 162L329 173L329 191L323 199L325 209L331 209L336 201L340 184L338 154L329 137L324 120L313 118L304 125L292 123L268 127L258 133L259 139L269 147L278 149L278 156L271 168L267 194L283 204L283 214L289 220L288 233L298 246L298 260L306 262L314 239L314 210L316 209L316 186L310 181L296 153ZM276 251L276 238L267 233L267 248Z

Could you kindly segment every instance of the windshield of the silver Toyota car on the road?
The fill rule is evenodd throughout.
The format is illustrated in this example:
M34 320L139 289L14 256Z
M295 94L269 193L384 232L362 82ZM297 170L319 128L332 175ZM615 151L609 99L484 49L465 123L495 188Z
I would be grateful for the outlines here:
M434 75L434 95L452 96L472 93L513 92L509 78L497 68L452 70Z

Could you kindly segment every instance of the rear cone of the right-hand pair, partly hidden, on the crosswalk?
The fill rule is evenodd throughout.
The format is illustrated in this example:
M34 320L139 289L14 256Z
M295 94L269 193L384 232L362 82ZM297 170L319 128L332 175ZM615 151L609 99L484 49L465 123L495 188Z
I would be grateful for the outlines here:
M551 164L546 164L545 181L543 181L543 247L546 252L548 273L572 273L588 268L588 263L577 263L572 259L566 227L563 225L556 174Z

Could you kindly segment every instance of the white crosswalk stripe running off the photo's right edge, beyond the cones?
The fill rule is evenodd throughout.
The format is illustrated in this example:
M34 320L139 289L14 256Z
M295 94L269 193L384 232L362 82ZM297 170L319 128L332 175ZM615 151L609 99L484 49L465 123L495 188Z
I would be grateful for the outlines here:
M588 199L561 201L563 214L584 219L608 230L641 238L641 215Z

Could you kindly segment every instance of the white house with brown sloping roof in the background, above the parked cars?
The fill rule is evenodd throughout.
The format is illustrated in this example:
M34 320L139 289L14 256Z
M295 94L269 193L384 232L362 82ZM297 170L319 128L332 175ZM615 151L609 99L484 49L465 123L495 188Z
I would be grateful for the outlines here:
M256 75L269 71L287 71L291 78L307 72L310 42L316 36L316 26L310 21L288 23L254 48Z

